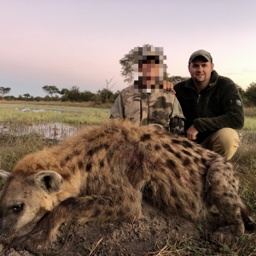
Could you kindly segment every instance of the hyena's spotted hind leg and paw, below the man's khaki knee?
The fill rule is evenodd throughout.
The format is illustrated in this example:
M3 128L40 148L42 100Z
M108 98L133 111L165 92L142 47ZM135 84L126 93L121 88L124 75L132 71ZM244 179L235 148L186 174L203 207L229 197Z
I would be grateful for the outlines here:
M207 202L218 208L227 224L213 234L214 240L230 243L234 236L240 237L244 232L238 185L238 178L229 162L219 157L212 163L207 172Z

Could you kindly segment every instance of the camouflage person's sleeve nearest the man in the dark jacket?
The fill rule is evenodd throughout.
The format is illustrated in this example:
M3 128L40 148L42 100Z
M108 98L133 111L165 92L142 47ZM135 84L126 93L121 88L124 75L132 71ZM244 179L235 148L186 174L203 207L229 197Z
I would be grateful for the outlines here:
M176 98L173 104L172 113L170 114L170 132L184 136L184 119L185 117L183 116L183 110Z

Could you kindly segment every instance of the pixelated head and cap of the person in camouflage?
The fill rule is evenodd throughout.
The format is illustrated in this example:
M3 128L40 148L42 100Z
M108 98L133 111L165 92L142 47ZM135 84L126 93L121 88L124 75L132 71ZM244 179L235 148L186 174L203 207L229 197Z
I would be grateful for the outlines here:
M139 93L165 92L166 65L160 47L136 47L134 49L134 88Z

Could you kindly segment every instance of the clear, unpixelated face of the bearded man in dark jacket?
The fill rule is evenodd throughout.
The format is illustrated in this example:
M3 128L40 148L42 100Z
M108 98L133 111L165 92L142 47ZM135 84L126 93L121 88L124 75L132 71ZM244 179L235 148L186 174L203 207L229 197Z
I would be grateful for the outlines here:
M189 73L195 83L209 83L214 64L202 56L189 63Z

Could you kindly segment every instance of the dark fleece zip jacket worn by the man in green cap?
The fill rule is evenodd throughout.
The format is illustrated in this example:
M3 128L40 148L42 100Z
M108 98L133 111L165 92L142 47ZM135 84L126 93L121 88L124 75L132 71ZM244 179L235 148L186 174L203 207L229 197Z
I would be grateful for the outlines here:
M174 85L176 96L185 116L184 129L191 125L199 131L196 142L202 143L213 131L230 127L241 129L244 125L244 113L241 96L236 84L228 78L218 76L212 71L210 84L201 90L195 90L192 79Z

